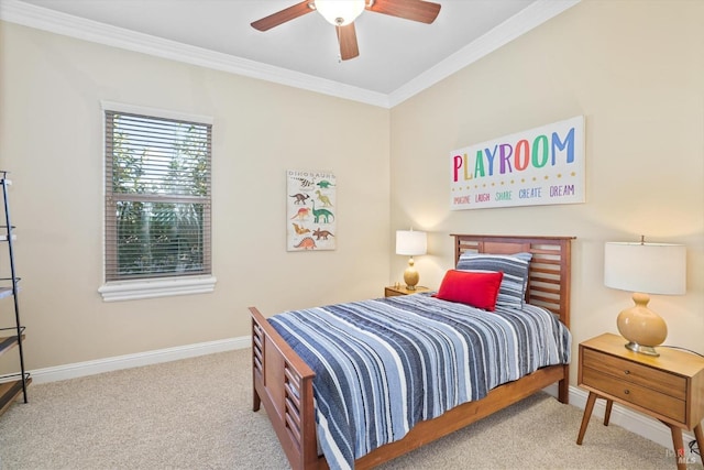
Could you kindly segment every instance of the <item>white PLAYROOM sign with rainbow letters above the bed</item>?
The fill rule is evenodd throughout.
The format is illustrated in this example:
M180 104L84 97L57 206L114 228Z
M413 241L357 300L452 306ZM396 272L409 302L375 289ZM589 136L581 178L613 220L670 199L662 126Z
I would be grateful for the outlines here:
M584 117L450 154L450 208L584 203Z

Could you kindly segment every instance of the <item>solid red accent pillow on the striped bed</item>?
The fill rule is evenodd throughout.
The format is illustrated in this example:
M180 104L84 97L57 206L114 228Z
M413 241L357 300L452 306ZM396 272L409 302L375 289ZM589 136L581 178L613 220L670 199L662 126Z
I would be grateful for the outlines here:
M494 311L503 278L502 271L477 273L450 270L442 278L435 296L442 300L458 302Z

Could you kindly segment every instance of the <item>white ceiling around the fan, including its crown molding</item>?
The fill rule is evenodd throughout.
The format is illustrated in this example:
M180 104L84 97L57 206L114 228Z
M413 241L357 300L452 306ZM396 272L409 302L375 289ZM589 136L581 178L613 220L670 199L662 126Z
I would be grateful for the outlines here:
M266 32L250 26L298 1L0 0L0 19L172 58L183 47L186 62L393 106L579 0L437 0L432 24L365 11L360 56L344 62L317 12Z

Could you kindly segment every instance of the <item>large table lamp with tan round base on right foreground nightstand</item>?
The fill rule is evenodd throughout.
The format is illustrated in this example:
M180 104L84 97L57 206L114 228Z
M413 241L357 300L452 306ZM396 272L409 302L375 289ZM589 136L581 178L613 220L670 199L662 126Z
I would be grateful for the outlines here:
M628 340L626 348L660 356L656 346L668 337L664 320L650 308L649 294L682 295L686 291L686 249L682 244L607 242L604 249L604 284L634 292L636 304L616 320Z

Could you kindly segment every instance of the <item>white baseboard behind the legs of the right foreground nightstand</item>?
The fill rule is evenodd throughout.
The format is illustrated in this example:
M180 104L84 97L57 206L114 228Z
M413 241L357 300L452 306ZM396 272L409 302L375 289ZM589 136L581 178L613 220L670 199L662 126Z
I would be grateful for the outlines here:
M544 391L552 396L558 396L557 384L550 385L549 387L544 389ZM584 409L586 407L587 396L588 392L570 385L570 405ZM594 405L594 409L592 411L592 416L598 417L603 420L605 412L606 401L597 400ZM670 433L670 428L664 426L659 420L646 416L641 413L614 403L614 406L612 407L612 416L608 423L620 426L630 433L645 437L646 439L650 439L667 449L672 449L672 434ZM574 429L575 441L578 433L579 429ZM584 436L585 440L588 439L588 434L590 431L587 429L586 435ZM691 440L695 440L694 435L685 431L682 433L682 438L684 440L685 450L689 450L686 446ZM700 464L702 463L702 458L700 456L689 453L688 457L694 457L697 459L697 462ZM674 459L674 455L672 456L672 458Z

